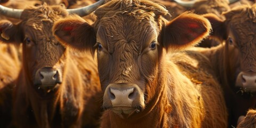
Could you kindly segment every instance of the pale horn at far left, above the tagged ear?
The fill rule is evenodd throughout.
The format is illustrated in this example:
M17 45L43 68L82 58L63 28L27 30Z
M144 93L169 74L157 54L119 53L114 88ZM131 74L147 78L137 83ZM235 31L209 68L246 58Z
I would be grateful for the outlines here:
M9 18L20 19L22 12L23 12L23 10L20 10L20 9L11 9L9 7L0 5L0 14L4 15L6 17L9 17Z

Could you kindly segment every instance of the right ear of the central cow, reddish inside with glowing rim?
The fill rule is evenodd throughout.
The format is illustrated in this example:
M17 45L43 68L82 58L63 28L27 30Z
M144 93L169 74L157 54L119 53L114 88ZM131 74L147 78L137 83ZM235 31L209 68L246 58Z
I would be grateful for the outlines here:
M209 35L210 22L201 15L185 12L167 23L162 30L166 50L183 50Z

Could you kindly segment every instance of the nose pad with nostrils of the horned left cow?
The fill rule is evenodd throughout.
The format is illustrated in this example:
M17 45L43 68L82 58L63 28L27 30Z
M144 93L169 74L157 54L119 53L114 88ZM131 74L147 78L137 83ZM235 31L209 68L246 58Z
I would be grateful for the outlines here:
M60 73L57 69L52 67L44 67L37 71L39 76L39 83L41 87L55 86L61 83Z

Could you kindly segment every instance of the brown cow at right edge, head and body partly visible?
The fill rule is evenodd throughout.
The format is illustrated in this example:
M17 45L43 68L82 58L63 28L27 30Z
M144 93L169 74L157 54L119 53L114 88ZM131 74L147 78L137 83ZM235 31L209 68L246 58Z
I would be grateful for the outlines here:
M229 126L256 107L256 5L238 6L223 14L205 14L213 26L212 38L223 41L211 49L196 49L210 59L229 110Z

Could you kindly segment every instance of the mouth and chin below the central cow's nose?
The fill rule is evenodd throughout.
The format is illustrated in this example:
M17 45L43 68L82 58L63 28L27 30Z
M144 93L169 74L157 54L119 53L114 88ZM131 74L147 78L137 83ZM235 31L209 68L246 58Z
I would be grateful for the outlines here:
M127 107L127 106L115 106L110 108L113 113L117 114L121 118L127 118L131 116L133 113L139 113L140 108L135 107Z

